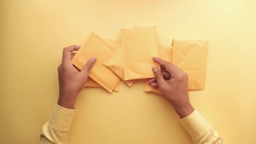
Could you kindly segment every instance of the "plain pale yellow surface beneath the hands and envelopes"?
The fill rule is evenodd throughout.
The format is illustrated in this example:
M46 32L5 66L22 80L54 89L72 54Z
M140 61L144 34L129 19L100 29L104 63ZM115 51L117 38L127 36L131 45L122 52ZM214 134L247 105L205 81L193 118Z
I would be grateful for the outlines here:
M62 48L91 31L117 39L120 28L157 26L159 43L209 41L205 91L191 103L227 143L256 142L256 1L1 1L0 143L37 143L58 98ZM121 83L120 92L86 88L70 143L191 143L159 95Z

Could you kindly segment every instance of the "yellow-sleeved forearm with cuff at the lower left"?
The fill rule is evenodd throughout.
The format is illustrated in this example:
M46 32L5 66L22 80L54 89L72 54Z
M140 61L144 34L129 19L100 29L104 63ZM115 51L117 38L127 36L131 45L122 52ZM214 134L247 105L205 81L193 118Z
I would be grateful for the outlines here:
M67 143L75 112L75 109L66 109L56 104L49 121L43 125L39 143Z

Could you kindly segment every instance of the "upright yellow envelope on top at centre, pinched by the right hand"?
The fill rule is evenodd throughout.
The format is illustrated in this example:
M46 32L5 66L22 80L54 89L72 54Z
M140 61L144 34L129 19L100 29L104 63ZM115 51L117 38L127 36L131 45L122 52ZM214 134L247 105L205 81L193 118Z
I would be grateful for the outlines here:
M152 57L159 57L156 27L121 29L125 80L154 77L152 67L160 67Z

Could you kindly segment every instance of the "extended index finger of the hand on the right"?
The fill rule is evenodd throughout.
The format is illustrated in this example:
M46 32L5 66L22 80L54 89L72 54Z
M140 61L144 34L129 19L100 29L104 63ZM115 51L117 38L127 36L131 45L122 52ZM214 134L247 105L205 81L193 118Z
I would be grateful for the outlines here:
M179 69L176 65L167 62L161 58L158 57L153 57L154 61L156 63L159 63L160 65L162 65L163 67L165 67L165 69L169 72L169 73L174 73L177 74L179 72L181 72L181 69Z

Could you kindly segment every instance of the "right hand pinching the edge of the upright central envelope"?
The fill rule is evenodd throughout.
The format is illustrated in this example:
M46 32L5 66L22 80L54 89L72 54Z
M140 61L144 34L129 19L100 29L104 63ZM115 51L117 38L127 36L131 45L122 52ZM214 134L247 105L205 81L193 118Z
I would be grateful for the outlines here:
M153 67L155 78L149 80L149 84L154 88L159 87L162 95L173 106L179 117L187 117L195 110L189 101L188 75L170 62L156 57L153 59L161 65L164 72L161 73L161 70Z

